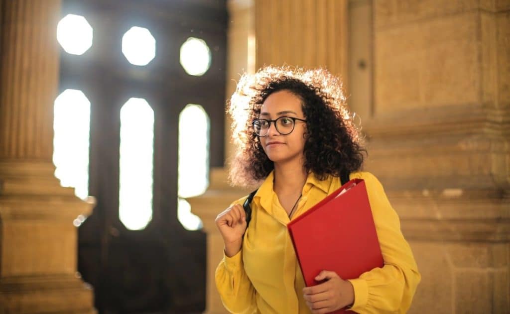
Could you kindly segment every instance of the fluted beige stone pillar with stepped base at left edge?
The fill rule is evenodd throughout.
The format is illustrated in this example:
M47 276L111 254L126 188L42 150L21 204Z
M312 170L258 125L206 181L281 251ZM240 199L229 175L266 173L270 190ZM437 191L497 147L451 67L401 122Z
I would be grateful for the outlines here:
M0 312L94 313L79 278L77 229L92 202L54 176L60 0L3 0L0 11Z

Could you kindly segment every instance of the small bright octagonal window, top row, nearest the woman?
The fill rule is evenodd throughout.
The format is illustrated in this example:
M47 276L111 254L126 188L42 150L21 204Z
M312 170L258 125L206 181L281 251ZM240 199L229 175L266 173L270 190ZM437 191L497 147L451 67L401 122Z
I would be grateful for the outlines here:
M202 39L190 37L181 46L180 61L188 74L203 75L211 67L211 49Z

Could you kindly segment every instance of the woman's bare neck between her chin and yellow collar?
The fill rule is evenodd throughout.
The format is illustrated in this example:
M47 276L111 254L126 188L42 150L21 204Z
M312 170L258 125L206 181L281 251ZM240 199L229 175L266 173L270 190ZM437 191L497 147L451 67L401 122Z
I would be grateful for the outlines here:
M303 189L308 173L302 163L274 164L274 185L276 193L294 194Z

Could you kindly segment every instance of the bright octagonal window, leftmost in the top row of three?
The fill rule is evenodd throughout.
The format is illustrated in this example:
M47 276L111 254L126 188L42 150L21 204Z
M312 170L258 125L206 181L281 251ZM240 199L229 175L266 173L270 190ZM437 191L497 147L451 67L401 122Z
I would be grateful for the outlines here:
M57 25L57 40L66 53L83 55L92 46L92 27L85 17L67 14Z

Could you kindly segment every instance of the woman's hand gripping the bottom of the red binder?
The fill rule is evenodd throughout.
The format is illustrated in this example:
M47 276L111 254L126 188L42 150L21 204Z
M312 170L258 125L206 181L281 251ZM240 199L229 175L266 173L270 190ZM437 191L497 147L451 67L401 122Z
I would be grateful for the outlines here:
M315 277L317 281L324 279L327 281L303 289L304 300L312 313L333 312L354 302L354 288L349 281L325 270Z

